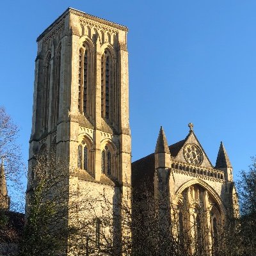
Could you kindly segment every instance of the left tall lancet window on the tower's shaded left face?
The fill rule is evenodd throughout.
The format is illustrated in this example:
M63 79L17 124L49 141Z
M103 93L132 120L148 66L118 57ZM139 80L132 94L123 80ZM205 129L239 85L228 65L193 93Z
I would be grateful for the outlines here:
M46 66L44 68L44 92L42 104L42 129L43 131L48 128L48 113L49 113L49 90L51 81L51 54L47 56Z

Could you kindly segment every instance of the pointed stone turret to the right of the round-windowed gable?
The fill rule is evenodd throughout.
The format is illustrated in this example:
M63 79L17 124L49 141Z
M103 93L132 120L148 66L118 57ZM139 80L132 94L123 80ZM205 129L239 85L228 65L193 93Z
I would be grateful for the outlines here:
M221 141L220 149L218 152L217 160L215 168L223 170L225 181L232 182L233 181L233 168L228 158L227 151Z

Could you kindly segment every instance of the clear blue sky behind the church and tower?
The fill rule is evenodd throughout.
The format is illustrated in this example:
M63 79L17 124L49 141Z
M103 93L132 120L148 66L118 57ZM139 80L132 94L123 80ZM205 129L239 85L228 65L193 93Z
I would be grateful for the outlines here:
M129 27L132 161L188 123L215 164L222 140L234 168L255 150L256 1L2 1L0 105L20 125L28 159L36 37L68 6Z

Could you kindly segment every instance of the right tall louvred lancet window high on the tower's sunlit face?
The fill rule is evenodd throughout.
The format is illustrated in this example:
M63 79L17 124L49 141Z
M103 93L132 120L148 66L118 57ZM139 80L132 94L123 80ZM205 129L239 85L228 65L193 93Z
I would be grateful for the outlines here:
M111 111L112 90L112 59L109 51L105 51L101 58L101 116L109 119Z

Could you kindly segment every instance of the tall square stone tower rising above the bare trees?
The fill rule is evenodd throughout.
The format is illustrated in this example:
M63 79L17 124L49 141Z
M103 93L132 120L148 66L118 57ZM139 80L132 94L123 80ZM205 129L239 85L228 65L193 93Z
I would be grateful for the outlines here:
M38 36L28 177L35 155L54 152L80 190L129 190L127 31L68 8Z

